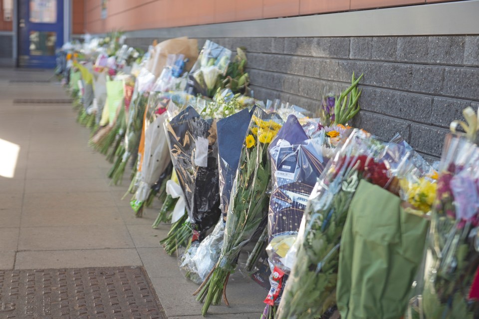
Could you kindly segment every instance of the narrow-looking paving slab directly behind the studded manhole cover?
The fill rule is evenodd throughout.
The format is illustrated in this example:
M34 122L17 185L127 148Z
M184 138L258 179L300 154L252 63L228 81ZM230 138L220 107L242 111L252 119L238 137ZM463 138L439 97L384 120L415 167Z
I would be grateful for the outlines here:
M136 249L18 252L15 269L141 266Z

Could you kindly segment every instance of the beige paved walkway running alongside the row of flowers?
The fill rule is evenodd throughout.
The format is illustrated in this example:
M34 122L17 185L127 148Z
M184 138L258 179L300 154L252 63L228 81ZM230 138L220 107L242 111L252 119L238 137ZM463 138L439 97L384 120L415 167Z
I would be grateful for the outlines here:
M109 186L111 164L87 145L71 104L13 103L67 98L51 70L0 68L0 270L143 266L168 318L203 318L198 286L159 245L169 227L151 228L159 201L134 217L121 200L129 172ZM231 307L212 306L207 318L257 319L266 294L236 273Z

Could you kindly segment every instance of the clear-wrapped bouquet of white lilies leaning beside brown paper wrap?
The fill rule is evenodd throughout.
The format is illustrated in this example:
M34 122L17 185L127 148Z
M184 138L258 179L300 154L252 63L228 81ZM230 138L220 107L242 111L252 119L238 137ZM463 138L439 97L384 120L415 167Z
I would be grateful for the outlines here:
M188 76L187 92L212 97L220 86L220 75L226 73L230 59L231 50L206 40Z

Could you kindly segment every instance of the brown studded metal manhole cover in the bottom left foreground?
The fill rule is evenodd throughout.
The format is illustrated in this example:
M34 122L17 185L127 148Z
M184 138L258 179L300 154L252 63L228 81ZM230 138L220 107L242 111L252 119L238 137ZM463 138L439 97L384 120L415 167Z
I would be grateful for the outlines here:
M0 271L0 319L166 319L143 267Z

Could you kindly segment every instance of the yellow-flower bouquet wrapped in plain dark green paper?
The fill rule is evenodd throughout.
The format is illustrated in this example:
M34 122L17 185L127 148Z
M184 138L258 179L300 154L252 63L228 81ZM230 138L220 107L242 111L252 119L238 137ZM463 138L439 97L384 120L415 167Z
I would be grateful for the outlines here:
M401 142L382 157L395 176L389 189L398 186L399 196L361 180L349 205L336 288L345 319L402 318L422 261L435 182L429 164Z

